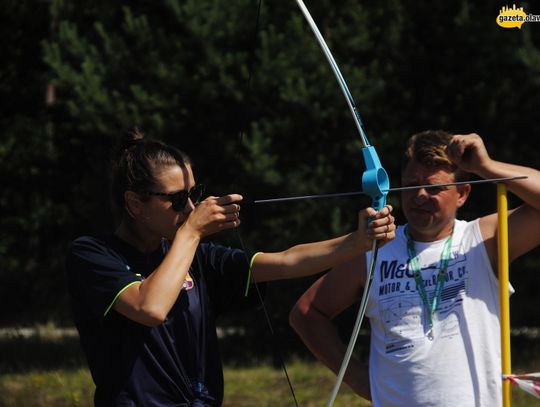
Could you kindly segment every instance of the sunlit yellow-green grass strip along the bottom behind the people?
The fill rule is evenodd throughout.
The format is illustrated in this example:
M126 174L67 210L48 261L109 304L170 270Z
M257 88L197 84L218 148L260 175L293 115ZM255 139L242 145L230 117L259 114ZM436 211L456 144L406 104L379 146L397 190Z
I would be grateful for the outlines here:
M288 366L298 404L303 407L324 406L335 376L315 362L294 362ZM225 368L225 400L223 407L288 407L294 406L282 370L268 365ZM93 383L86 368L29 371L0 375L2 407L91 407ZM514 389L513 407L537 407L540 401ZM343 385L336 407L369 406Z

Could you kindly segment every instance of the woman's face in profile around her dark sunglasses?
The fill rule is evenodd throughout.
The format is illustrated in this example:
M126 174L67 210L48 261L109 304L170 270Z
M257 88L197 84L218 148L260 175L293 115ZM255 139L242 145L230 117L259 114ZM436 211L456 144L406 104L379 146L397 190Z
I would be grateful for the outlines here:
M190 165L180 167L171 165L156 170L156 184L150 192L173 194L178 191L189 191L195 186L195 178ZM179 211L173 208L168 196L151 195L145 202L145 217L143 221L148 231L155 237L165 237L173 240L176 230L186 221L195 206L191 199ZM178 208L177 208L178 209Z

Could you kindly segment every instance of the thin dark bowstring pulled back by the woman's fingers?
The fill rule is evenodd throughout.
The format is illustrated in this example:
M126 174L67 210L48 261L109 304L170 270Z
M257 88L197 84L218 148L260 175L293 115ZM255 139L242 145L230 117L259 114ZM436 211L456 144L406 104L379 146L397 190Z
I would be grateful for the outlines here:
M249 61L248 61L248 80L247 80L247 89L246 89L246 99L248 100L248 103L249 105L248 106L251 106L251 80L253 78L253 62L254 62L254 59L255 59L255 47L256 47L256 43L257 43L257 35L258 35L258 32L259 32L259 24L260 24L260 17L261 17L261 7L262 7L262 0L259 0L259 3L258 3L258 6L257 6L257 17L255 19L255 30L254 30L254 35L253 35L253 44L252 44L252 49L251 49L251 52L250 52L250 58L249 58ZM247 127L249 126L249 115L246 115L246 120L245 120L245 128L246 128L246 131L245 131L245 134L247 134ZM240 133L240 139L242 140L244 136L244 133ZM287 379L287 383L289 385L289 389L291 391L291 395L293 397L293 400L294 400L294 404L296 407L298 407L298 400L296 399L296 394L294 392L294 388L293 388L293 385L292 385L292 382L291 382L291 379L289 377L289 373L287 372L287 367L285 366L285 361L283 360L283 357L281 355L281 347L279 346L279 343L278 343L278 340L277 340L277 335L275 334L275 331L274 331L274 327L273 327L273 324L272 324L272 320L270 318L270 315L268 313L268 310L266 308L266 305L264 303L264 297L261 293L261 290L259 289L259 286L257 284L257 281L253 278L253 275L252 275L252 267L251 267L251 261L253 260L253 257L250 259L249 256L248 256L248 250L246 249L246 245L244 244L244 240L242 239L242 236L240 235L240 230L239 228L236 228L236 236L238 238L238 241L240 243L240 247L242 248L242 251L244 252L245 256L246 256L246 261L247 263L250 264L250 267L249 267L249 271L248 271L248 286L250 283L252 283L255 287L255 291L257 293L257 298L261 304L261 307L262 307L262 310L263 310L263 313L264 313L264 318L265 318L265 321L266 321L266 325L268 326L268 329L270 331L270 337L272 339L272 342L273 342L273 349L274 349L274 352L275 352L275 356L278 358L279 360L279 363L283 369L283 372L285 373L285 378ZM246 296L247 296L247 293L248 293L248 286L246 287Z

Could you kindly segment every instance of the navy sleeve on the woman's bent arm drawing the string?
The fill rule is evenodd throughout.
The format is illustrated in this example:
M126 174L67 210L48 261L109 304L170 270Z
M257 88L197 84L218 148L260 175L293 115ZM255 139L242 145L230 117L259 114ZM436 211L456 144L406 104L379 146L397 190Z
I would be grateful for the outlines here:
M91 237L71 244L66 279L76 319L102 319L122 291L142 281L104 241Z

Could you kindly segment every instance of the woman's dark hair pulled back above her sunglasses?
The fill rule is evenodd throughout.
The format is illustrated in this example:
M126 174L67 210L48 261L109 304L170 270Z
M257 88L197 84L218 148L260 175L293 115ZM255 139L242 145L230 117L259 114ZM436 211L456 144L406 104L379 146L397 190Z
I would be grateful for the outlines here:
M124 207L124 192L142 193L156 185L155 170L171 165L191 165L184 152L161 141L145 138L137 127L129 129L120 140L112 159L111 201L115 212ZM141 199L146 199L145 195Z

